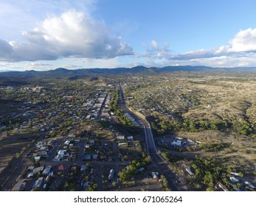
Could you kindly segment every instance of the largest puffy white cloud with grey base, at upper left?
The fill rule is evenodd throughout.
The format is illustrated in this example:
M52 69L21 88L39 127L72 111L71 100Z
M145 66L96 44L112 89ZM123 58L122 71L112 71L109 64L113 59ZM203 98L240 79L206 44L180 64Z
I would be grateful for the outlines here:
M26 40L24 42L7 43L1 40L0 60L108 59L134 54L131 46L114 36L103 21L76 10L46 18L35 29L22 35Z

